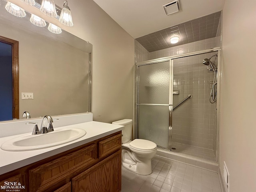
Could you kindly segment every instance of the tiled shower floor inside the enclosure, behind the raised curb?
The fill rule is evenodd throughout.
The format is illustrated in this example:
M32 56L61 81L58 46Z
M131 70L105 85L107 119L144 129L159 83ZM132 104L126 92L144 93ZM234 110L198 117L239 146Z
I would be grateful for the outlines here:
M196 157L209 162L216 162L214 152L211 149L200 148L176 142L172 142L172 148L176 148L176 150L172 150L172 152L186 154L188 156Z

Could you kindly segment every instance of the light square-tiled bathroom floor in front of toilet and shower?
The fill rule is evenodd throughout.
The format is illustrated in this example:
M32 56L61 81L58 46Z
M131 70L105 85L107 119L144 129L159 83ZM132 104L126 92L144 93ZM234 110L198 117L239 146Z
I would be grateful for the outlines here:
M215 172L157 156L152 169L143 176L122 167L121 192L222 192Z

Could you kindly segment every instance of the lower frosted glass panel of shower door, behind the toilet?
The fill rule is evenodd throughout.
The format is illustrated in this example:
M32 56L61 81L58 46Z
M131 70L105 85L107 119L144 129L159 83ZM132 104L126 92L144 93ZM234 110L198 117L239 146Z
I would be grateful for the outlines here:
M169 106L140 105L138 138L168 148Z

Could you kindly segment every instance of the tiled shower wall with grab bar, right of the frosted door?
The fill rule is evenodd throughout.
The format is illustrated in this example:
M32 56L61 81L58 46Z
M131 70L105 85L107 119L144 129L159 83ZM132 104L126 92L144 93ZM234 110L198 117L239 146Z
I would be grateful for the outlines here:
M203 40L199 44L210 44L215 40ZM192 94L192 98L173 111L172 142L213 150L216 143L216 104L209 102L214 73L202 64L204 58L216 54L200 54L174 59L173 106Z

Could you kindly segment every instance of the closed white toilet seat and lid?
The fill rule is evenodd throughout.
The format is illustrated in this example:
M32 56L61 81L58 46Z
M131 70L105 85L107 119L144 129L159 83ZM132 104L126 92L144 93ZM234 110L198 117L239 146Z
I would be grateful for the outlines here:
M130 148L138 151L154 151L156 150L156 144L152 141L145 139L134 139L130 142Z

